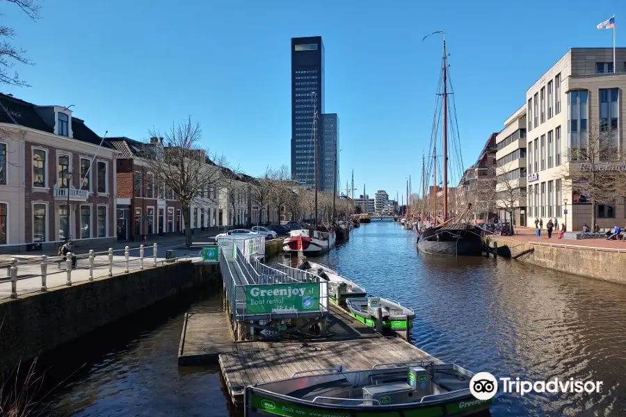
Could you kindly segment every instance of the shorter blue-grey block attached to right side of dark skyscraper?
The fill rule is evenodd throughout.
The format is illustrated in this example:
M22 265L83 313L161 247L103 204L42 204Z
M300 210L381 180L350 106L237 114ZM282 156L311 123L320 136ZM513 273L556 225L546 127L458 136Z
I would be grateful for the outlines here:
M320 174L319 189L332 191L337 177L337 188L341 188L339 182L339 117L337 113L326 113L321 117L321 149L322 154L319 158L322 170ZM335 157L337 157L337 170L335 172Z

